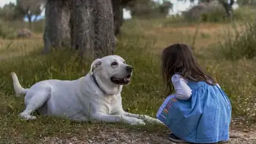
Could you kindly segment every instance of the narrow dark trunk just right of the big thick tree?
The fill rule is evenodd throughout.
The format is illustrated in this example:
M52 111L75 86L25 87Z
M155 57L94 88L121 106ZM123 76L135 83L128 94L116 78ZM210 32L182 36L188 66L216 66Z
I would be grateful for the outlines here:
M111 0L114 15L114 32L115 35L120 34L120 27L123 24L123 6L120 0Z

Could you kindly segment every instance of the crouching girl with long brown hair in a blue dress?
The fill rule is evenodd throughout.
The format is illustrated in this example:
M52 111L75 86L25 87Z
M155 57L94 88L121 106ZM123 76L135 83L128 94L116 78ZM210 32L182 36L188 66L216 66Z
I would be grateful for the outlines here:
M218 143L229 139L230 101L220 85L207 75L189 45L174 44L163 50L162 73L168 96L157 112L172 131L170 140Z

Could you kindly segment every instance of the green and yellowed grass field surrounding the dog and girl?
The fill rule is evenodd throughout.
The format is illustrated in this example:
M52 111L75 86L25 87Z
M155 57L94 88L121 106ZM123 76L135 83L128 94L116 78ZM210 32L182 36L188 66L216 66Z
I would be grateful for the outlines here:
M165 23L164 23L165 22ZM155 117L163 103L164 87L160 75L161 50L170 43L194 43L200 64L218 80L232 102L232 117L255 123L256 60L225 59L220 51L220 39L230 24L168 25L167 20L130 20L125 22L119 37L116 54L134 66L130 85L122 92L124 110ZM131 31L132 29L132 31ZM196 36L195 36L196 34ZM124 124L74 123L66 119L41 117L32 122L19 119L24 110L23 97L13 95L10 72L17 73L24 87L40 80L56 78L74 80L86 75L92 61L77 61L72 52L52 52L40 55L42 35L25 40L0 40L0 143L35 143L44 137L90 136L97 131L125 129L164 133L161 126L131 127ZM221 37L222 38L222 37ZM10 44L11 43L11 44ZM6 56L7 55L7 56Z

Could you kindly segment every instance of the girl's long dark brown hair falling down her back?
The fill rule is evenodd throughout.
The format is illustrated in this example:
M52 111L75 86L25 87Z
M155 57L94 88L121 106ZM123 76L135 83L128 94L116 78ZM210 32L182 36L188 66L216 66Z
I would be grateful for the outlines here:
M172 94L174 90L172 76L176 73L193 82L204 81L209 85L216 84L216 80L200 68L189 45L176 43L164 48L161 61L162 76L168 95Z

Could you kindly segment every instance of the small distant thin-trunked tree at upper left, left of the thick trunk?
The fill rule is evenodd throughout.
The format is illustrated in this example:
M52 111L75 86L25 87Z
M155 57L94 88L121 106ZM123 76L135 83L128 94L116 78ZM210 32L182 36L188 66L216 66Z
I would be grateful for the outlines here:
M44 10L46 0L17 0L17 10L22 15L26 16L29 21L29 29L32 29L32 22L36 20L38 15ZM35 15L35 19L32 20L32 16Z

